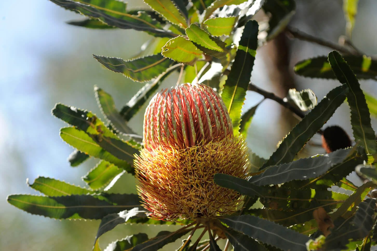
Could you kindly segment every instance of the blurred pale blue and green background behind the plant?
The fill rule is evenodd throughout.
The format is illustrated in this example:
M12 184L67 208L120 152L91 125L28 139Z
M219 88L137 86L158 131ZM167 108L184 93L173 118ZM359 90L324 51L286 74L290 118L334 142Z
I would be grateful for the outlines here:
M129 9L145 6L142 0L128 2ZM296 4L296 14L290 26L334 43L345 35L342 0L297 0ZM376 10L377 1L360 0L352 32L352 42L368 55L377 54ZM97 233L100 221L60 222L31 216L15 209L5 199L10 193L32 193L25 186L25 181L29 178L32 183L38 175L84 186L80 177L95 166L96 161L89 160L79 167L70 167L66 159L72 148L59 137L59 128L64 123L50 113L55 103L92 110L102 119L94 98L94 85L110 93L118 108L141 87L139 83L104 68L92 58L92 54L132 58L151 36L135 30L95 30L65 23L80 18L80 15L48 1L0 3L0 198L3 198L0 200L3 211L0 217L0 250L34 251L42 247L87 250ZM258 13L255 18L258 20L265 16ZM279 35L257 50L251 80L280 97L284 97L289 88L310 88L321 100L339 82L296 76L293 65L305 58L327 55L330 50ZM177 77L178 73L171 75L163 87L174 85ZM362 80L360 84L366 92L377 94L375 81ZM251 107L260 100L261 95L249 92L245 107ZM348 106L343 104L326 125L340 125L351 136L348 113ZM139 134L142 132L142 120L143 113L140 113L129 123ZM272 100L266 100L257 108L251 123L247 138L249 147L267 158L296 122L290 111ZM372 126L377 128L375 120L372 120ZM311 142L319 144L320 137L315 136ZM324 153L323 149L314 146L305 151L308 151L307 154ZM130 175L124 175L110 190L125 191L136 193L135 181ZM101 237L104 243L101 247L138 231L155 234L174 227L147 229L143 225L133 225L132 228L131 231L129 225L118 225Z

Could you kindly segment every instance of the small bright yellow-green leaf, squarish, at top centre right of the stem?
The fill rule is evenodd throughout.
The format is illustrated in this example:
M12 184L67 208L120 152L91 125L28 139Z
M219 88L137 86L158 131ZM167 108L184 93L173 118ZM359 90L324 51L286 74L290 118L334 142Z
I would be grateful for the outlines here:
M213 36L230 35L238 17L215 17L204 21L208 32Z

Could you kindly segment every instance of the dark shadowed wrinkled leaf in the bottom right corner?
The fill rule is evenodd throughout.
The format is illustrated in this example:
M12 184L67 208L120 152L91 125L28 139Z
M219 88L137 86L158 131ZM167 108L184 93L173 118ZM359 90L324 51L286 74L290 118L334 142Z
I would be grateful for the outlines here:
M332 233L326 237L324 245L326 250L341 250L349 242L349 239L357 240L368 236L375 224L373 218L375 203L375 199L366 199L361 202L353 221L341 224L339 227L336 226Z

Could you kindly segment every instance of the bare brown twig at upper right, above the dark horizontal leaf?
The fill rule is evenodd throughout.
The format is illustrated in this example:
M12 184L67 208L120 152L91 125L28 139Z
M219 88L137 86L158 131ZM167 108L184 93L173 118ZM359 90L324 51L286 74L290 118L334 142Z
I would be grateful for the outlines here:
M325 41L325 40L322 40L321 38L313 37L312 35L309 35L305 32L297 30L296 28L293 28L293 27L287 27L285 29L285 32L287 32L292 37L300 39L300 40L304 40L304 41L316 43L316 44L319 44L319 45L322 45L322 46L326 46L326 47L329 47L331 49L337 50L339 52L360 56L360 54L356 50L355 51L349 50L346 47L341 46L339 44L335 44L335 43L332 43L332 42L329 42L329 41Z

